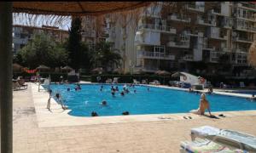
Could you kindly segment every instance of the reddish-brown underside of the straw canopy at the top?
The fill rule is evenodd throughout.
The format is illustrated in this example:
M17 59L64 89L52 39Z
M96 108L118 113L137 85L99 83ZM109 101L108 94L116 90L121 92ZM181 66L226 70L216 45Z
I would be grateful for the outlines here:
M14 13L99 15L147 6L150 2L13 2Z

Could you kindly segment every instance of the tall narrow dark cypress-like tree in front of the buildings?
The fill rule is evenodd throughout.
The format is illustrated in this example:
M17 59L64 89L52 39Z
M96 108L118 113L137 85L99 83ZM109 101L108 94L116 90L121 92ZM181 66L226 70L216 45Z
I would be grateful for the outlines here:
M81 65L81 19L79 17L73 18L71 22L71 29L69 30L69 37L67 42L67 51L69 53L69 65L76 71Z

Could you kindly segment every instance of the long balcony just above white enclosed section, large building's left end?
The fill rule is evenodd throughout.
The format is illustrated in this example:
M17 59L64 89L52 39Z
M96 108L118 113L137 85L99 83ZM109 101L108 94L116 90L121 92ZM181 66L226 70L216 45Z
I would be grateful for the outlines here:
M150 30L150 31L160 31L160 32L165 32L165 33L172 33L176 34L176 29L174 29L171 26L159 26L159 25L153 25L153 24L142 24L138 26L139 30Z

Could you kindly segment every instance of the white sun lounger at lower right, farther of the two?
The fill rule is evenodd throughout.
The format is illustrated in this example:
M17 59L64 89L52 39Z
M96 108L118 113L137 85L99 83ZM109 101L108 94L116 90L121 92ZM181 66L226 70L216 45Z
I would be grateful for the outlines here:
M203 126L191 129L191 139L193 140L195 137L211 139L220 144L256 152L256 137L247 133Z

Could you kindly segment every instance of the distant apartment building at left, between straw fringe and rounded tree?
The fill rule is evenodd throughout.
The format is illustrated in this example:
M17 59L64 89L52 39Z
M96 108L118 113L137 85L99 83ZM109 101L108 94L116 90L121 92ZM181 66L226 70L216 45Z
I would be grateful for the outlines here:
M57 42L64 42L68 38L68 31L61 30L55 26L13 26L13 52L16 54L32 39L35 33L46 32L55 38Z

